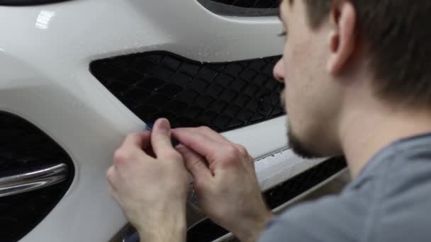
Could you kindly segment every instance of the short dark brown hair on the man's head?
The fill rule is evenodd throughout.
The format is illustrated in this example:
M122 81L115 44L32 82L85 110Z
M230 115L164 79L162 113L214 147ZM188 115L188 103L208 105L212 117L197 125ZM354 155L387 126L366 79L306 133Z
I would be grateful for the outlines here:
M328 20L337 0L303 0L311 28ZM376 95L417 108L431 107L431 1L349 0L371 54Z

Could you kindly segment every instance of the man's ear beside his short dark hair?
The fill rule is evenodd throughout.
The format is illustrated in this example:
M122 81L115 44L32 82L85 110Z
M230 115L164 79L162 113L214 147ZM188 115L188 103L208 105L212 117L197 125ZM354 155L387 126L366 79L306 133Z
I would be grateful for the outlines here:
M334 1L330 12L330 58L326 67L330 74L340 73L352 57L356 47L356 21L357 14L350 1Z

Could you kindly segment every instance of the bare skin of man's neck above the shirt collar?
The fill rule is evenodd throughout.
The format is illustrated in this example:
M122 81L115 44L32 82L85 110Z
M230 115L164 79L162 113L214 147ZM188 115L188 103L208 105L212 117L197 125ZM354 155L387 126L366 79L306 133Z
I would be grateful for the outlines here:
M340 139L352 178L381 149L406 137L431 132L431 113L376 105L359 108L341 125Z

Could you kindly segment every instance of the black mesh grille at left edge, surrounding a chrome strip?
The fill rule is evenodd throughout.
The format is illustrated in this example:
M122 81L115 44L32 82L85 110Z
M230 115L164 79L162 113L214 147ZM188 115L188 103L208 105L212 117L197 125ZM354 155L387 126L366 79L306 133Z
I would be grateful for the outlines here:
M62 183L21 195L0 197L0 241L18 241L60 201L72 183L69 156L40 129L20 117L0 112L0 177L10 171L65 163L69 176Z

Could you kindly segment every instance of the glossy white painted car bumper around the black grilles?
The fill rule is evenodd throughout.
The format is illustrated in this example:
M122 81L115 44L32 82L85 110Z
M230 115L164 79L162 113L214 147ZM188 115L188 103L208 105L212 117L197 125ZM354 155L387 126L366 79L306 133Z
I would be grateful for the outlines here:
M275 17L216 16L194 0L0 6L0 110L33 122L76 168L67 195L22 241L108 241L125 224L105 171L125 135L145 125L90 74L91 60L150 50L205 62L267 57L281 53L280 31ZM285 133L280 117L224 135L257 159L284 149ZM289 151L266 160L257 172L269 186L292 174L279 167L301 161Z

